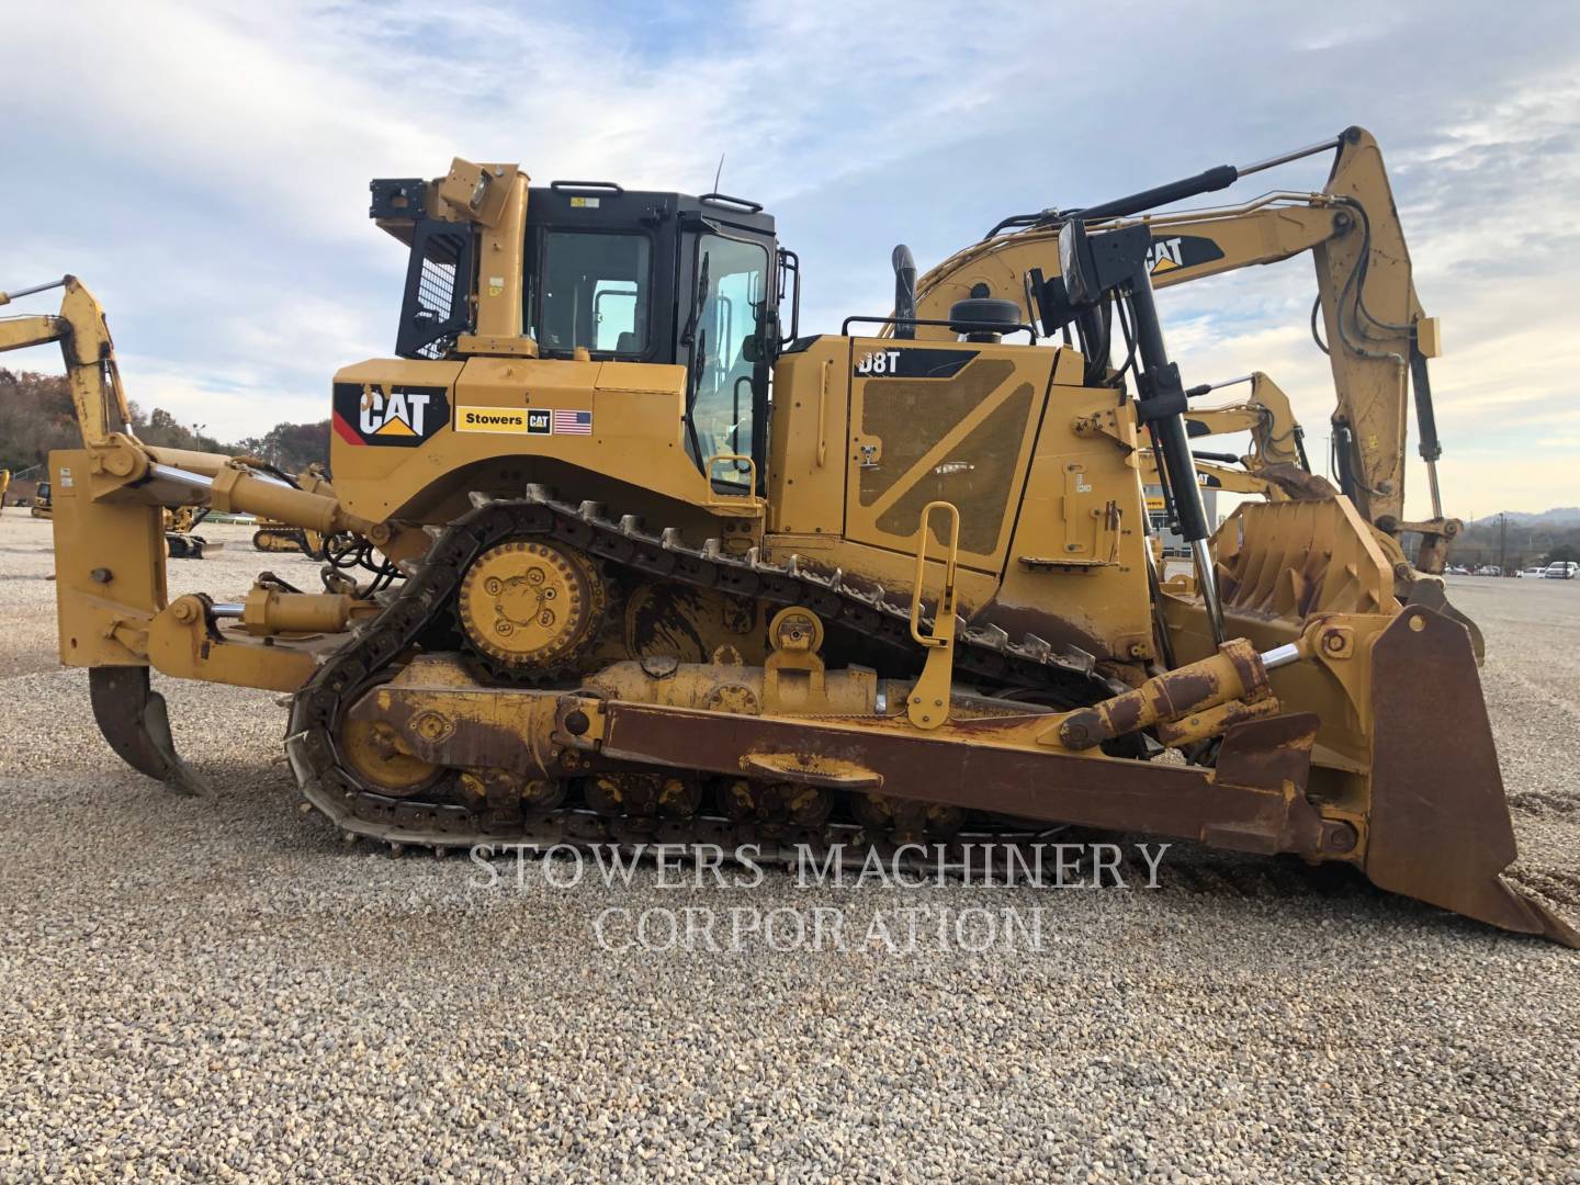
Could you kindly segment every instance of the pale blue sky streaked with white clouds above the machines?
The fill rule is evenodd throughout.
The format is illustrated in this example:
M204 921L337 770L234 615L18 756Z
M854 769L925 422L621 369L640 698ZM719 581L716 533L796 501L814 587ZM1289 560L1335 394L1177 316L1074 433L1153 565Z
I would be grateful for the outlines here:
M0 289L81 276L131 398L228 439L322 419L335 370L392 352L404 258L371 177L460 155L698 193L722 155L720 188L801 256L803 332L836 332L890 307L896 242L926 270L1003 215L1359 123L1443 321L1444 512L1580 504L1574 0L57 0L8 13L0 77ZM1315 190L1327 164L1213 201ZM1264 370L1322 452L1313 292L1289 261L1160 308L1187 384ZM1419 461L1406 480L1424 515Z

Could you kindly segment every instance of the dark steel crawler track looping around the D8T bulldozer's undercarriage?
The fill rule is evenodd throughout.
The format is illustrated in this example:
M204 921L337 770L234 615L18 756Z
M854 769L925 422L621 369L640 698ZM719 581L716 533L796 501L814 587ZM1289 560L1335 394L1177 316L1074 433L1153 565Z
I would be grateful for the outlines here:
M425 630L446 624L468 566L509 539L547 537L580 548L616 572L635 572L645 578L657 577L776 605L799 605L817 613L828 627L855 630L897 654L915 656L908 607L890 604L882 589L852 588L837 570L809 570L796 559L768 564L755 548L736 556L717 540L690 548L681 542L678 531L649 534L632 515L607 518L597 504L559 502L539 487L529 487L523 499L472 495L472 502L471 512L438 534L420 562L403 566L406 580L386 594L382 611L360 623L351 640L321 662L292 700L286 754L297 784L307 801L348 839L370 837L395 848L449 850L482 844L540 852L556 845L588 848L615 844L632 850L653 844L708 844L733 850L750 844L758 847L763 863L790 863L806 848L825 852L834 844L841 845L847 863L864 860L867 850L893 853L894 845L886 837L867 836L852 823L814 830L739 823L714 815L610 818L575 801L545 811L520 806L474 809L447 801L390 798L362 784L341 760L335 739L344 713L368 689L400 670ZM975 629L964 623L956 634L954 665L961 675L984 686L1030 687L1065 706L1106 698L1122 689L1095 670L1089 654L1055 653L1032 635L1011 643L1003 630ZM1038 834L1048 831L975 826L954 836L950 845L1027 842Z

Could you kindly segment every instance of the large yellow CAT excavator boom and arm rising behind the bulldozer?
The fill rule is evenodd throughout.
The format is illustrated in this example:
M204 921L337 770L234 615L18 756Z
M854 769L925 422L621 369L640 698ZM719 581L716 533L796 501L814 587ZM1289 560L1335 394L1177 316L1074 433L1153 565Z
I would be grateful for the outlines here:
M1334 152L1334 166L1319 193L1273 191L1240 205L1147 213L1329 150ZM1155 288L1280 262L1310 251L1318 281L1311 333L1329 357L1337 393L1332 441L1340 490L1378 532L1379 544L1395 564L1401 591L1417 583L1422 574L1443 572L1447 544L1458 534L1462 523L1443 515L1438 490L1436 461L1443 447L1427 374L1427 360L1439 349L1438 322L1422 313L1382 153L1367 131L1348 128L1334 141L1310 149L1240 169L1220 166L1095 207L1068 212L1048 209L1005 218L980 243L957 251L915 283L916 338L946 335L937 322L962 299L1013 302L1022 321L1035 321L1049 308L1057 310L1059 237L1070 218L1082 220L1089 229L1146 228L1152 240L1147 267ZM904 259L896 253L896 267L913 267L908 253ZM1081 333L1087 356L1095 359L1093 374L1108 367L1111 341L1119 341L1115 327L1103 322L1082 327L1078 321L1066 322L1065 330L1071 327ZM1123 332L1123 325L1119 329ZM1427 521L1409 521L1405 517L1405 444L1411 386L1420 457L1430 483L1431 518ZM1196 398L1213 389L1212 384L1193 387L1187 397ZM1262 389L1272 390L1266 386L1266 376ZM1275 414L1288 411L1288 400L1281 392L1277 403L1281 408ZM1190 419L1202 422L1215 417L1210 409L1193 408ZM1294 419L1288 417L1283 423L1292 428ZM1220 430L1234 428L1213 428ZM1272 463L1299 466L1310 474L1299 428L1285 431L1283 436L1280 455ZM1253 472L1250 466L1247 471ZM1289 469L1281 472L1297 485L1302 483ZM1259 493L1266 488L1255 477L1253 472L1253 480L1243 482L1250 487L1243 491ZM1318 496L1319 488L1315 487ZM1398 545L1405 532L1420 536L1413 566ZM1443 604L1441 586L1419 589L1414 596L1439 607Z

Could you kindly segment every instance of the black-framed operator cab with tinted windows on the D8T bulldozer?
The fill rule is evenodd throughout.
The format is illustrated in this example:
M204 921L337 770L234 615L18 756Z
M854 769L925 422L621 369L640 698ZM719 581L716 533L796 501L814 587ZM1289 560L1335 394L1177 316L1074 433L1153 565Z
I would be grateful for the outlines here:
M419 185L373 182L371 215L411 245L397 354L442 359L495 280L479 228L409 218ZM773 216L725 194L610 182L532 186L526 210L521 329L537 357L686 367L686 452L720 493L746 493L766 468L779 300L796 280Z

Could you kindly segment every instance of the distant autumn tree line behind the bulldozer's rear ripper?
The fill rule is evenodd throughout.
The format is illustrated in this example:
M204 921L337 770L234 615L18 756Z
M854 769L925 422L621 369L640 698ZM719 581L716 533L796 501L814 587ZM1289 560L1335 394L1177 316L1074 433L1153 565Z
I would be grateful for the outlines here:
M318 423L276 423L262 436L243 436L226 442L190 427L164 408L144 414L136 403L131 430L144 444L161 449L193 449L196 452L246 453L269 461L286 472L300 472L308 465L329 466L329 420ZM41 466L52 449L77 449L82 438L71 406L71 389L65 374L36 374L0 368L0 469L22 472Z

